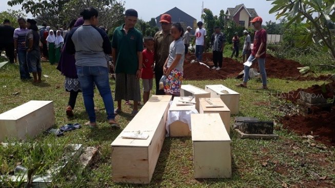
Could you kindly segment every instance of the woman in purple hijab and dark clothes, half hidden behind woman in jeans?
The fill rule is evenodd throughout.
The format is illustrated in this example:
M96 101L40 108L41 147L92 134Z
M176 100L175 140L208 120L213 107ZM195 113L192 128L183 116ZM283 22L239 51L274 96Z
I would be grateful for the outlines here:
M74 20L75 21L75 20ZM84 19L82 17L78 18L77 21L70 23L70 30L73 27L79 27L84 24ZM67 35L65 36L64 42L67 40ZM70 98L68 106L66 108L66 115L69 117L73 116L73 109L75 102L77 100L78 93L82 91L80 86L77 69L75 68L75 59L74 55L66 52L66 45L61 52L60 62L58 63L57 69L62 72L65 76L64 88L66 91L70 92Z

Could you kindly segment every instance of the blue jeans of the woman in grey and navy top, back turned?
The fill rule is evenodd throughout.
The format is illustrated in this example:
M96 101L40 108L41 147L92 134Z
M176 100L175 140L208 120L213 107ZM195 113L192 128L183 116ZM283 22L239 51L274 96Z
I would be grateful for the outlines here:
M82 86L84 105L91 123L96 121L94 111L94 90L93 83L103 98L107 119L115 119L114 102L109 86L109 77L107 67L100 66L76 66L79 82Z

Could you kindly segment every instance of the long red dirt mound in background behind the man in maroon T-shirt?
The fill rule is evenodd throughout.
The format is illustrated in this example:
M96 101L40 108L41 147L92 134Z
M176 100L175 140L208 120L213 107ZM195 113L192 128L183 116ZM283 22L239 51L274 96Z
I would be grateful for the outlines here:
M208 69L198 63L191 64L191 60L195 60L193 53L187 54L184 61L184 79L185 80L214 80L235 78L243 70L243 63L235 61L231 58L223 59L223 67L221 70ZM212 67L212 53L203 53L203 61L208 66ZM303 67L299 62L292 60L278 59L267 55L266 72L269 78L280 78L289 80L325 80L328 77L302 77L297 69ZM254 63L252 68L258 69L258 64Z

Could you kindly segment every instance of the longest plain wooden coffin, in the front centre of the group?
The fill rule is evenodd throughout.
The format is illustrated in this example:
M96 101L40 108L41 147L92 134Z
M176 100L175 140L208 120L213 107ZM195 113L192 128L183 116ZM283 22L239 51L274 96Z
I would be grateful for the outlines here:
M166 135L165 123L171 96L152 96L112 142L113 181L148 184ZM123 139L123 133L141 131L146 140Z

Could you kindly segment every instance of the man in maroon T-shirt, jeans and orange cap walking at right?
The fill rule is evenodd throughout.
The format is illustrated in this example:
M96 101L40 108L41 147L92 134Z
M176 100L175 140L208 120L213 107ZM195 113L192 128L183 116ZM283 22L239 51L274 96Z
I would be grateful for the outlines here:
M259 87L259 89L267 89L266 83L266 71L265 71L265 57L266 57L266 30L262 28L262 18L255 17L252 21L250 21L253 27L256 29L254 40L253 40L253 50L248 58L248 62L253 62L253 60L257 59L258 66L260 68L260 73L262 76L262 83L263 85ZM238 87L247 87L247 82L249 79L249 70L250 66L244 66L244 80L243 83L238 84Z

